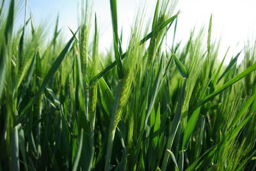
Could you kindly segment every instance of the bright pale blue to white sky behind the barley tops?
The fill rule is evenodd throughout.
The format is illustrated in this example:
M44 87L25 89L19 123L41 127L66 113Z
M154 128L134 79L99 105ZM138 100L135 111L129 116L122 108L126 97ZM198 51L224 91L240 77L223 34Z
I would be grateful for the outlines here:
M135 11L141 0L119 0L118 26L123 28L124 37L129 37ZM147 18L154 14L156 0L146 0ZM77 28L78 0L28 0L36 24L42 21L54 25L57 15L60 16L60 27L67 40L71 34L68 30ZM256 1L255 0L179 0L176 6L179 14L177 40L188 40L191 29L207 27L212 14L212 40L221 38L220 56L222 59L230 46L228 57L235 56L247 40L256 40ZM100 51L104 52L111 46L112 27L108 0L94 0L93 8L97 14L100 28ZM174 12L174 13L175 13ZM152 18L151 18L152 19ZM22 15L18 23L22 23ZM120 29L119 28L119 29ZM124 43L125 44L125 43ZM239 59L241 61L241 58ZM228 59L227 61L228 62Z

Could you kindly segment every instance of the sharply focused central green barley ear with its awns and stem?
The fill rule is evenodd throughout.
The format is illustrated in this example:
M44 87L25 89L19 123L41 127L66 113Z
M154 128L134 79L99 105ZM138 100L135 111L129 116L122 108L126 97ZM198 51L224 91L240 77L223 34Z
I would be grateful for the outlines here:
M118 90L115 97L115 104L113 107L113 114L111 116L111 122L109 125L109 135L108 135L108 146L106 153L106 162L104 170L109 170L111 161L111 151L113 147L113 141L115 138L116 127L122 117L124 107L129 100L131 94L132 83L136 77L136 71L140 64L140 57L143 53L143 47L140 46L140 36L141 36L141 26L143 26L143 16L144 9L138 13L134 28L131 33L131 41L129 43L127 58L124 61L124 77L118 83Z

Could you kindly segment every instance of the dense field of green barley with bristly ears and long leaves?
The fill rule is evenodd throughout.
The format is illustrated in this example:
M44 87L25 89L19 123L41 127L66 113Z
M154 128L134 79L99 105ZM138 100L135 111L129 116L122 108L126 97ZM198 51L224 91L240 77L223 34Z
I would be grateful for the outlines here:
M89 1L67 42L58 19L49 33L26 3L0 3L0 170L256 169L256 41L224 64L233 52L219 55L209 16L166 46L182 13L156 0L152 19L146 4L137 11L124 48L110 0L113 42L101 54Z

